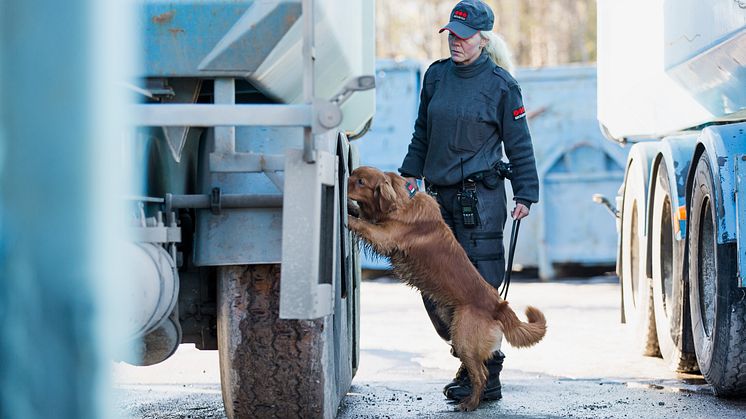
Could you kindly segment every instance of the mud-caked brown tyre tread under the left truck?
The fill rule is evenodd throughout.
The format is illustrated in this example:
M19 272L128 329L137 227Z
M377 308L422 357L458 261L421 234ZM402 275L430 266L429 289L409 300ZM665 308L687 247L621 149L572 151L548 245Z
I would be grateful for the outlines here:
M218 353L229 419L324 416L323 320L281 320L280 265L218 268Z

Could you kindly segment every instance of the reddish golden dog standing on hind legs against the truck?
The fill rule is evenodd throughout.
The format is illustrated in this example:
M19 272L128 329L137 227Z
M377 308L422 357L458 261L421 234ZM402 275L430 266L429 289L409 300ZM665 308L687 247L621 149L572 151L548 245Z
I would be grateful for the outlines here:
M396 173L373 167L353 171L347 191L360 206L360 218L350 216L349 227L376 253L391 258L397 277L439 307L453 310L453 347L473 388L459 408L474 410L487 381L484 361L492 355L500 333L512 346L531 346L544 337L546 319L541 311L528 307L528 323L520 321L469 261L443 221L438 203L426 193L410 198L406 183Z

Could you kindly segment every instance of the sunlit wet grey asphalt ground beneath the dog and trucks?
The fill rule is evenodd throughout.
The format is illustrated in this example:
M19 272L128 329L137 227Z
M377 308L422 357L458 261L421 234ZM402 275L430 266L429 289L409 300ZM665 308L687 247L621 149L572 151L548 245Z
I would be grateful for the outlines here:
M419 294L397 281L365 281L361 359L339 418L744 418L746 400L723 400L701 376L671 372L631 350L615 277L517 280L508 301L547 316L532 348L503 345L503 398L471 413L441 393L459 366ZM522 315L522 314L520 314ZM133 418L224 418L217 353L182 345L151 367L114 364L117 411Z

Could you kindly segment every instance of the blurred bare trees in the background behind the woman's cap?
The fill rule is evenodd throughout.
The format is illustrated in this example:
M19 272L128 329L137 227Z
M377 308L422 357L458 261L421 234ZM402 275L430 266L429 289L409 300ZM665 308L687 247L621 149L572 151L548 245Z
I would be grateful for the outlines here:
M485 1L495 12L493 30L505 38L518 65L595 61L595 0ZM447 57L447 37L438 30L448 22L455 4L455 0L377 0L378 56Z

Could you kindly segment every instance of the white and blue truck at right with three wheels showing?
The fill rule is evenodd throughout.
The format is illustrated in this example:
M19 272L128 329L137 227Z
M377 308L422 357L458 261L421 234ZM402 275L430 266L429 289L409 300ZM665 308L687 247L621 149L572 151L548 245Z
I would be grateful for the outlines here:
M635 350L746 395L746 3L599 1L598 120Z

